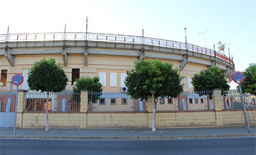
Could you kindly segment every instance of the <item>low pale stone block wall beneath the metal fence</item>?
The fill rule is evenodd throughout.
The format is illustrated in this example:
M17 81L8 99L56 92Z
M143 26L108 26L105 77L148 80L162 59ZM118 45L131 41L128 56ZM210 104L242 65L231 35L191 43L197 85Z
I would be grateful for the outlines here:
M249 117L253 118L253 112ZM20 128L43 128L44 112L20 112L16 126ZM256 125L250 121L250 125ZM50 128L66 129L151 129L152 112L90 113L50 112ZM209 112L157 112L157 129L245 126L243 111Z

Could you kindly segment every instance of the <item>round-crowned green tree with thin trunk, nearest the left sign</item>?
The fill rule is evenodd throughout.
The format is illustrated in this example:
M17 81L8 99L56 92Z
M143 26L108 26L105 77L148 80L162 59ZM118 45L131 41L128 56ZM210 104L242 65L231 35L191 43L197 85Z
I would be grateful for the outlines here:
M55 59L43 58L39 62L35 62L31 66L28 74L28 84L31 90L47 92L46 102L46 129L49 131L48 125L48 97L49 92L61 92L66 88L67 77L62 69L61 64L57 64Z

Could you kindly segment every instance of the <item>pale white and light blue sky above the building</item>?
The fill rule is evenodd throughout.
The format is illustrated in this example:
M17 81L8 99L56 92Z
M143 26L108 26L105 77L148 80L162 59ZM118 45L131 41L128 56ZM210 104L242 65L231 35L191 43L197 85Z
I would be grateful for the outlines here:
M7 0L0 34L89 32L129 34L230 48L235 71L256 63L256 0ZM235 89L234 82L231 89Z

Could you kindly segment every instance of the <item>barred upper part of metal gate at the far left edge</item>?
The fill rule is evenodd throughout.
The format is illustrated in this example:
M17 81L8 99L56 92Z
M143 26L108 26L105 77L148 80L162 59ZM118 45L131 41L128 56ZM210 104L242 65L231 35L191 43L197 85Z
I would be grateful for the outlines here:
M15 112L16 93L0 93L1 112Z

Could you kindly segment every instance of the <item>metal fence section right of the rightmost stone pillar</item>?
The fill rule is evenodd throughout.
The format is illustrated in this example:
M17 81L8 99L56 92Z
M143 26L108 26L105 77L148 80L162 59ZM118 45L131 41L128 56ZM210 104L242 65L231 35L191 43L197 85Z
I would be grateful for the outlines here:
M240 92L236 89L223 91L222 92L222 109L223 110L235 110L243 109L243 104L241 103ZM245 107L247 109L255 109L255 96L249 93L243 94L243 100Z

